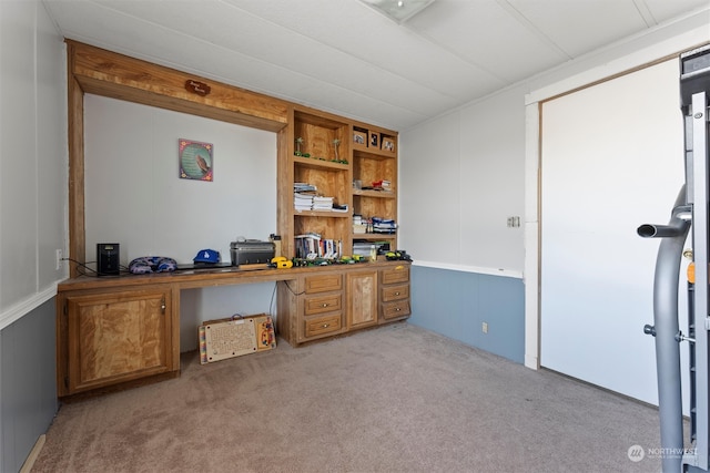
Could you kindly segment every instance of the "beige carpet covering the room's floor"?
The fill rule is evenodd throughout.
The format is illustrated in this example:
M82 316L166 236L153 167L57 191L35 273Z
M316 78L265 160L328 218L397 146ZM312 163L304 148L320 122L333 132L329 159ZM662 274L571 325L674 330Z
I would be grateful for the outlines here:
M63 405L32 471L660 471L656 409L557 373L406 322L278 341Z

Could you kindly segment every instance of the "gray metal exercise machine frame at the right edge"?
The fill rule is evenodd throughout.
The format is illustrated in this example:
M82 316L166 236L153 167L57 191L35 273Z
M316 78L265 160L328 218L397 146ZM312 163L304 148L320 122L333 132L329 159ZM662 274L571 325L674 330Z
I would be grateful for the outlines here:
M641 225L642 237L662 238L653 280L658 403L663 473L709 471L710 456L710 241L709 187L710 44L680 55L680 102L684 126L686 184L668 225ZM680 259L690 232L694 278L688 282L688 335L679 329ZM690 444L683 439L680 343L688 342L690 368Z

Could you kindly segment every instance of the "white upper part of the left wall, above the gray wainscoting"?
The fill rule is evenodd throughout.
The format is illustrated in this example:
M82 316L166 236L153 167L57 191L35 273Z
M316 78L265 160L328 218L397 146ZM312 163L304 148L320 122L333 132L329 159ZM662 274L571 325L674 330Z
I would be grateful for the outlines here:
M67 79L39 2L0 2L0 329L54 296L67 265Z

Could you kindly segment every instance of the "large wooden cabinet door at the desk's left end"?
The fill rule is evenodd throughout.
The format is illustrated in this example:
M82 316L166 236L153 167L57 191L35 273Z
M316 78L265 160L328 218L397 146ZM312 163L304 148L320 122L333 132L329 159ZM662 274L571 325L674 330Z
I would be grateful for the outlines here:
M68 297L70 393L170 371L169 306L168 290Z

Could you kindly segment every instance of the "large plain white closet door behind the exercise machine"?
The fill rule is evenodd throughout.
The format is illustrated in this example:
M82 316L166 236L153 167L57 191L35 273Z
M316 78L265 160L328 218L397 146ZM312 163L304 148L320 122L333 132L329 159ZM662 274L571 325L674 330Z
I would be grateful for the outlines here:
M642 329L660 240L636 229L668 223L684 182L679 103L670 60L541 111L541 364L651 403L655 339Z

